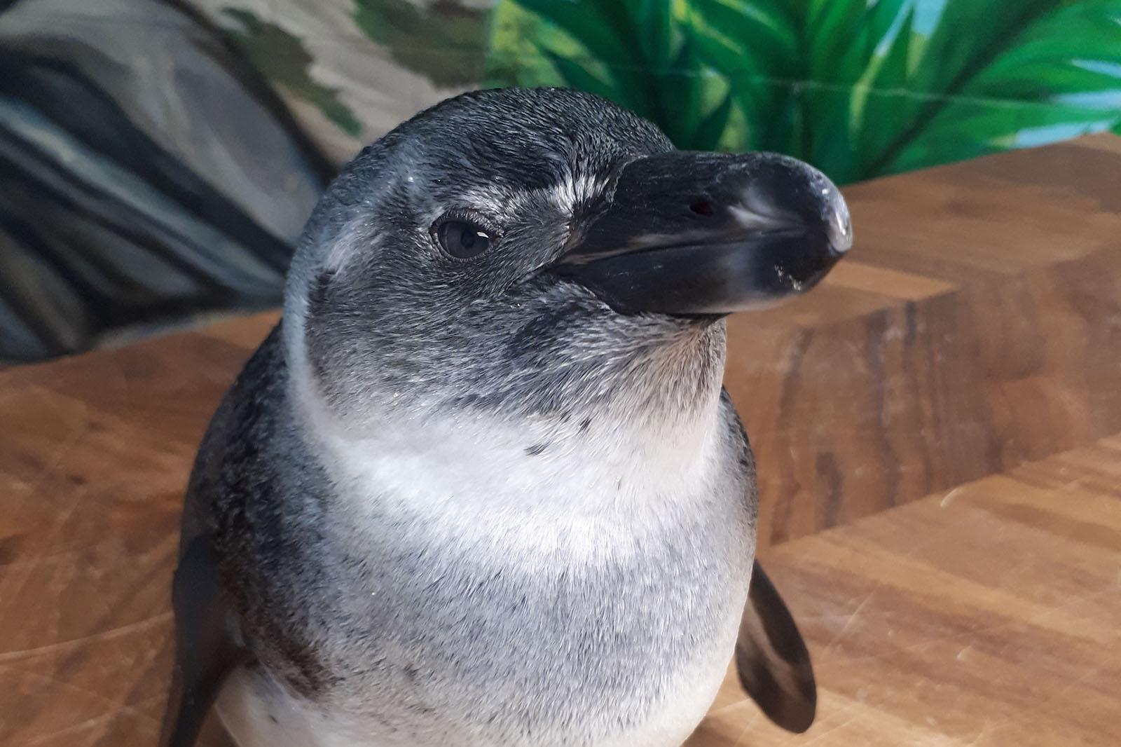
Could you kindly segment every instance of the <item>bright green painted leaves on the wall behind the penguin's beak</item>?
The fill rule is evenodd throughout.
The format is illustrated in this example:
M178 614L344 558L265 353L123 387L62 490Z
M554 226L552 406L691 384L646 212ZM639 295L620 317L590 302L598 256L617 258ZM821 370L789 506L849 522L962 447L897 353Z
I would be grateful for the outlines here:
M1121 128L1121 0L504 0L487 73L849 183Z

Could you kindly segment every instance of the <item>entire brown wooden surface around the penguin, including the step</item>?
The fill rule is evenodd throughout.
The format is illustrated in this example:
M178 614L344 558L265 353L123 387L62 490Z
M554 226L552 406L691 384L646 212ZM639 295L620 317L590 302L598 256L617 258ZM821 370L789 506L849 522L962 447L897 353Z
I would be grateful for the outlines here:
M733 320L821 708L729 681L691 747L1121 745L1118 142L846 190L852 257ZM272 319L0 371L0 746L155 744L182 489Z

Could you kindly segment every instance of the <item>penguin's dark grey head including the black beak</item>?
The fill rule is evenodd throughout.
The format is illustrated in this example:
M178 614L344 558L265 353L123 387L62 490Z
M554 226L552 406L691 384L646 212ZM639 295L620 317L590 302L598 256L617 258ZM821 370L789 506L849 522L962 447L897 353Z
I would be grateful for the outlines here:
M571 418L719 395L723 317L802 293L849 249L816 169L675 150L586 93L478 91L367 147L289 271L285 338L341 418Z

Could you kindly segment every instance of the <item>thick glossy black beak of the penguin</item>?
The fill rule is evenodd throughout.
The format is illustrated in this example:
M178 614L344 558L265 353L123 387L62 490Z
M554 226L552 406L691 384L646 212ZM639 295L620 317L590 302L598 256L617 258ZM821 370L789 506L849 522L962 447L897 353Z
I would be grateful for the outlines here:
M623 314L723 316L808 290L851 246L844 199L812 166L675 150L628 164L549 269Z

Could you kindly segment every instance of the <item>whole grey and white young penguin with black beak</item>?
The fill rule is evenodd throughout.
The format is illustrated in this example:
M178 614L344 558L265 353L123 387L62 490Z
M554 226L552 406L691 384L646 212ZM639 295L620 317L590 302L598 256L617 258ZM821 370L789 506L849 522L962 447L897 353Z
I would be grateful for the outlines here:
M733 657L808 728L724 319L851 246L821 172L572 90L368 146L200 446L161 744L677 747Z

